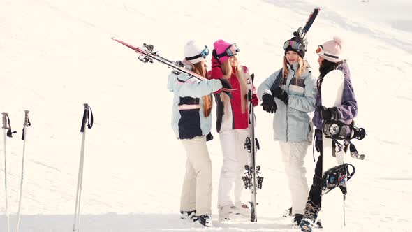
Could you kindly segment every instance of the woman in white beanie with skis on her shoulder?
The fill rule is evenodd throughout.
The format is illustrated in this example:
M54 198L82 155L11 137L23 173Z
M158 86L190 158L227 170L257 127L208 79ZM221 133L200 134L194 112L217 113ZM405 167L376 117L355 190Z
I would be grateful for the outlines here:
M208 54L207 46L189 41L184 47L183 63L187 69L206 78ZM206 146L207 138L212 138L212 93L222 87L231 88L227 80L200 81L186 73L172 72L168 78L168 89L175 95L172 128L187 154L181 218L197 220L203 226L212 226L212 164Z

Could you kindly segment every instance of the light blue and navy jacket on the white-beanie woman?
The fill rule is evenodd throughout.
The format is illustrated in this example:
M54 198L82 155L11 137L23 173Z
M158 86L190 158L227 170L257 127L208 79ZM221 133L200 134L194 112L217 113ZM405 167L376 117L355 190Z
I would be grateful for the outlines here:
M220 80L200 81L187 73L170 73L168 89L175 95L172 106L172 129L178 139L206 136L212 128L212 113L205 117L203 96L221 89ZM212 99L211 99L212 100ZM213 100L212 100L213 101Z

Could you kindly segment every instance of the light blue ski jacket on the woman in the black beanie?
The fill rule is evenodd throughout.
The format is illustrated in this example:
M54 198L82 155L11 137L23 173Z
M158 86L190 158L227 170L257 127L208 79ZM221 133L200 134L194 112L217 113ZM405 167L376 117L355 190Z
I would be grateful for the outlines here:
M273 117L274 140L282 142L302 142L311 143L313 125L309 112L315 110L316 102L316 82L312 77L310 68L302 73L300 78L295 78L294 66L288 65L288 78L281 80L281 88L289 95L288 105L283 101L274 98L277 105L276 113ZM270 87L277 78L279 71L274 72L258 87L258 97L262 100L263 94L270 94Z

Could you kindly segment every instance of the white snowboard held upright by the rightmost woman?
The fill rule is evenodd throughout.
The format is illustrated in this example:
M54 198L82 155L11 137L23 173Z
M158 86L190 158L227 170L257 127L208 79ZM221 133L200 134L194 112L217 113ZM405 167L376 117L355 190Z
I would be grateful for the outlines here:
M342 94L344 93L344 73L339 70L330 71L323 78L321 86L322 106L326 108L341 105ZM332 139L327 138L325 133L322 136L323 141L323 165L322 173L329 168L344 164L344 151L334 151ZM339 231L344 226L344 199L339 188L333 189L326 194L322 191L322 225L324 229Z

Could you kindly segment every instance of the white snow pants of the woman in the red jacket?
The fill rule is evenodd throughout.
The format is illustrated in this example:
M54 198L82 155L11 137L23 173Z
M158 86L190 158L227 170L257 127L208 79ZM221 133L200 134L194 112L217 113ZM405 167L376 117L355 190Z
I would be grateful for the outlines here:
M250 135L249 129L233 129L219 133L223 152L223 166L219 179L218 208L242 202L244 165L249 165L250 154L244 149L244 142ZM231 194L233 189L234 201Z

